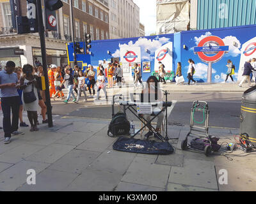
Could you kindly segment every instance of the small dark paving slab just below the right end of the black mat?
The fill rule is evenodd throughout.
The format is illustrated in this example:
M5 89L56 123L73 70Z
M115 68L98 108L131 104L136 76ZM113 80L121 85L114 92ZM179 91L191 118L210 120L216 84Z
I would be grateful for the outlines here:
M171 155L159 155L156 160L156 164L178 166L183 167L184 155L171 154Z

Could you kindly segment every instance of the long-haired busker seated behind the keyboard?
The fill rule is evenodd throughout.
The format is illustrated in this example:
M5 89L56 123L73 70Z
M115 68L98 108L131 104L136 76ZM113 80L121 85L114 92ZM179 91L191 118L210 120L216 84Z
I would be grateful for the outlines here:
M157 104L157 106L152 107L154 115L157 115L157 113L159 113L159 112L161 112L161 110L163 110L163 94L162 94L161 90L158 89L158 80L155 76L151 76L148 78L147 85L143 89L142 94L143 94L143 98L148 98L148 96L150 96L150 99L151 99L152 95L155 95L156 98L154 98L154 102L161 102L161 103ZM143 101L143 102L147 103L148 101ZM151 120L150 119L151 114L144 114L142 116L144 116L144 118L147 121ZM163 124L163 120L164 120L164 113L162 112L157 116L157 125L156 125L157 135L156 134L154 135L152 128L148 127L149 131L145 135L145 137L149 138L149 136L152 136L152 135L154 135L155 137L157 137L157 136L159 137L159 135L161 135L159 133L159 131L161 129L161 124Z

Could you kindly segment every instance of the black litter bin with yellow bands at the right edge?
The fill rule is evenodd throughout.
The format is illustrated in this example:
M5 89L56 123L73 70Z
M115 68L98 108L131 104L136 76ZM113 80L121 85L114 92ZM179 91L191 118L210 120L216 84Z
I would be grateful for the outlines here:
M240 119L241 135L256 145L256 86L243 94Z

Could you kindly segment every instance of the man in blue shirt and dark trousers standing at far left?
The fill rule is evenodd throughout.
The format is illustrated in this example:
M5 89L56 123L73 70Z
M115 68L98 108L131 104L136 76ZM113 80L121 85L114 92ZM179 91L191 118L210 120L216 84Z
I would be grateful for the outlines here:
M3 71L0 71L0 98L3 111L4 143L10 143L11 136L24 135L19 129L20 98L17 88L20 87L13 61L6 62ZM12 122L11 122L12 109Z

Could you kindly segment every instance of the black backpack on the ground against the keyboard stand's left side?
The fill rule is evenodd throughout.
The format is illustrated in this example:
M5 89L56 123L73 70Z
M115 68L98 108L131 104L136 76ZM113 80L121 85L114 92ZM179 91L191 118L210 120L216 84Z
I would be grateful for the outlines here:
M130 122L127 120L125 113L116 113L108 126L108 136L125 136L129 133Z

